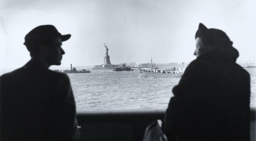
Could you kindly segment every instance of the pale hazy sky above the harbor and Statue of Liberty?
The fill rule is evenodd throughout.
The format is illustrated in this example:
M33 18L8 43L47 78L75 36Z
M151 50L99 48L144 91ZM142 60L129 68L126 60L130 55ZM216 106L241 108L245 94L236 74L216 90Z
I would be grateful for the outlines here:
M195 59L199 23L225 31L240 53L256 60L255 0L0 0L0 69L15 69L29 59L25 35L51 24L62 34L62 65L127 61L190 62Z

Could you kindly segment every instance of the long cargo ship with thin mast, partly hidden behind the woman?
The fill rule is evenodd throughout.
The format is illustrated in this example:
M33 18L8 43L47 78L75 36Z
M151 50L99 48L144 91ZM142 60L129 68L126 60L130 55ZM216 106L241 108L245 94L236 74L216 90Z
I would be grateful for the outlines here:
M139 74L142 77L181 77L184 71L185 67L183 66L183 62L182 66L177 66L177 69L176 67L171 67L166 70L153 69L151 57L151 69L140 69Z

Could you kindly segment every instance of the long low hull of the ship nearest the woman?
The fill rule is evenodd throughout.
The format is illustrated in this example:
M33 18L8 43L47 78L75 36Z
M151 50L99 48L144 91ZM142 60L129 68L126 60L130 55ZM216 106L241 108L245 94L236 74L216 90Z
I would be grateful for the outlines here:
M156 72L148 72L140 70L141 77L181 77L182 74L175 73L156 73Z

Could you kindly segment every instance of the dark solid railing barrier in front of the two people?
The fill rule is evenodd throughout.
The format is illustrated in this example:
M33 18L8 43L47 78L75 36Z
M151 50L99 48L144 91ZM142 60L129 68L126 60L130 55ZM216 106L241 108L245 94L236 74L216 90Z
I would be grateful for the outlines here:
M156 119L164 118L165 109L110 110L78 112L81 140L139 141L145 128ZM251 140L255 141L255 109L251 109Z

